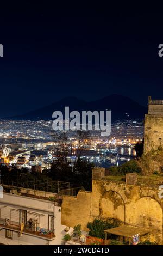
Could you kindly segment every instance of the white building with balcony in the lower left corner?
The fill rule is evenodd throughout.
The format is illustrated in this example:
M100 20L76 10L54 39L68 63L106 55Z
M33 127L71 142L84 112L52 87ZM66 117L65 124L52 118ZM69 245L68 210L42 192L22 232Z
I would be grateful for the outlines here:
M54 202L10 193L0 198L0 243L61 245L65 228Z

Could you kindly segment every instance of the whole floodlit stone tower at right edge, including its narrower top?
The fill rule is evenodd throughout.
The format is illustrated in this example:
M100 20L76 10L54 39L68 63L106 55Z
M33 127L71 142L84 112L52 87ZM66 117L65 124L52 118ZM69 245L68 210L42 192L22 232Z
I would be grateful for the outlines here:
M163 100L148 96L148 114L145 114L144 153L163 147Z

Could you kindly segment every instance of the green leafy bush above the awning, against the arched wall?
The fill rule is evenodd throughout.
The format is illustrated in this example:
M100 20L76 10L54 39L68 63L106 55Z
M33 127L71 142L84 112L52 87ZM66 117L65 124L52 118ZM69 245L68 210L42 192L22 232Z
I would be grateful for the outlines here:
M93 220L93 222L87 223L87 228L90 229L89 231L90 236L95 236L95 237L105 239L104 230L118 227L118 225L120 225L120 221L118 220L113 220L109 218L107 220L102 220L102 219L96 218L95 220ZM110 235L108 234L108 238L110 238L109 236L112 237L111 234Z

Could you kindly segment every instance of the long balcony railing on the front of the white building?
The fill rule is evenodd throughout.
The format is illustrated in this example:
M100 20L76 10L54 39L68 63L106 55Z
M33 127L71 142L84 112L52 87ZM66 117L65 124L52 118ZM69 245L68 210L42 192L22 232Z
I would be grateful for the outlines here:
M6 229L13 229L19 232L21 230L19 222L10 221L7 218L0 218L0 227L4 227ZM36 235L36 236L45 237L47 239L52 239L55 237L55 230L50 231L46 228L40 228L40 227L27 228L27 225L24 225L22 233L24 232L32 235Z

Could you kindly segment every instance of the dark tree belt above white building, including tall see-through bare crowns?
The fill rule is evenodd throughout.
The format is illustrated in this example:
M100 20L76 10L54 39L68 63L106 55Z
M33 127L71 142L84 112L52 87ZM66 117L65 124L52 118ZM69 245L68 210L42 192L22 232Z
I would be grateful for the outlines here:
M76 132L76 145L78 148L73 151L74 142L68 138L68 133L54 132L53 139L58 147L55 148L56 161L51 164L49 170L43 170L42 173L30 172L26 168L14 168L10 170L8 167L1 166L1 182L5 185L13 185L18 187L26 187L35 190L46 191L46 185L38 180L43 180L45 183L51 181L65 181L70 182L72 187L91 191L92 186L92 168L93 164L81 159L83 150L89 142L89 132ZM75 154L75 155L74 155ZM75 157L73 166L71 164L71 157ZM24 185L24 186L23 186ZM56 193L54 186L48 186L48 192ZM50 198L51 200L51 198Z

